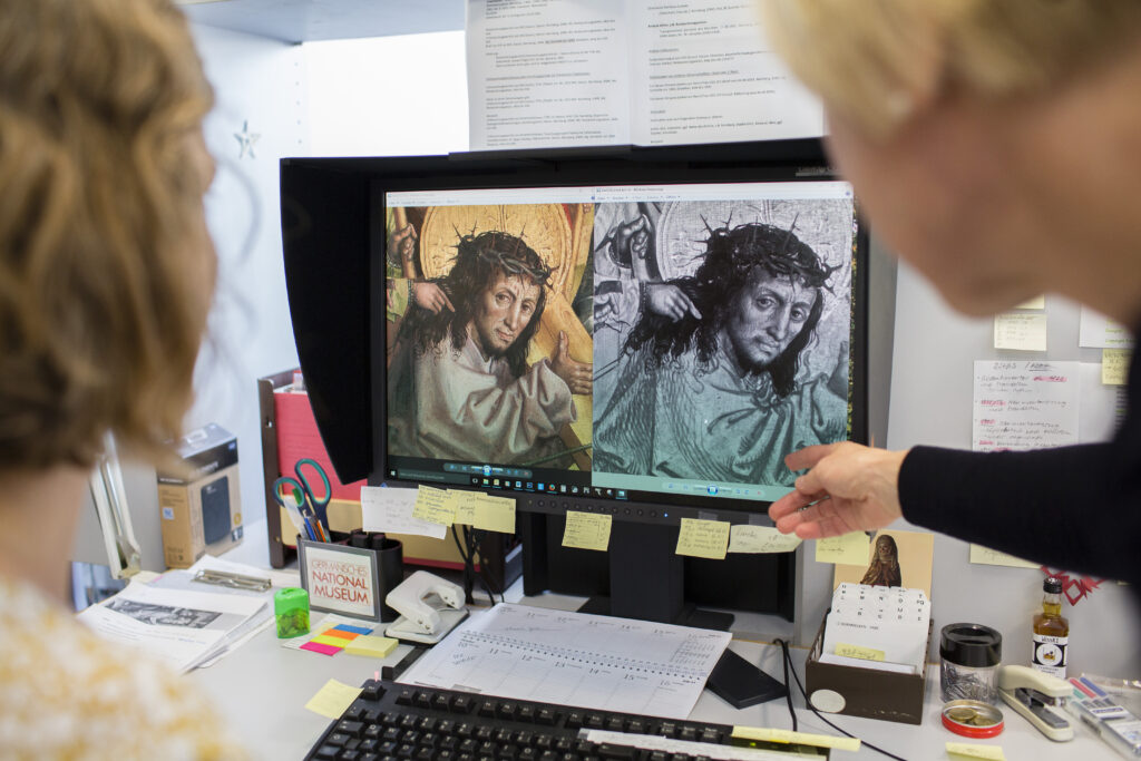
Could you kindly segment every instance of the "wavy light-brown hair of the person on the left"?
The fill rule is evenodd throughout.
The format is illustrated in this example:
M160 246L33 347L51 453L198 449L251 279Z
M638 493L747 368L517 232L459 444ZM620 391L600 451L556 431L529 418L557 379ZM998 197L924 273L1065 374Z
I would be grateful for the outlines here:
M187 24L168 0L10 0L0 50L0 467L89 467L107 431L161 458L215 268Z

